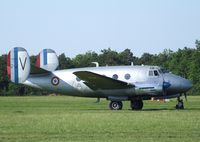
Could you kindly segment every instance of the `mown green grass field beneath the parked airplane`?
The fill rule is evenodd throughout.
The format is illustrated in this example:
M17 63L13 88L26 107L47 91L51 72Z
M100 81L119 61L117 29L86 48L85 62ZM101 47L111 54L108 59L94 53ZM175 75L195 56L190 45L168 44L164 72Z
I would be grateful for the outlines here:
M143 111L108 109L108 101L66 96L0 97L0 142L199 142L200 96L185 110L144 102Z

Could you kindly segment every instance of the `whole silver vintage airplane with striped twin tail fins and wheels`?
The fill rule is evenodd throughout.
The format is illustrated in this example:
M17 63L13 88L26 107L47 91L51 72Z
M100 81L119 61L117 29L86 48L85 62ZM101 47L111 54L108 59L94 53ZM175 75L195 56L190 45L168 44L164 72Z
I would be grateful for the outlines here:
M27 51L15 47L7 56L10 80L55 93L80 97L106 98L112 110L120 110L122 101L130 101L133 110L143 108L143 100L178 98L177 109L184 108L180 96L191 81L158 66L110 66L56 70L59 62L51 49L42 50L30 72ZM38 73L37 73L38 72Z

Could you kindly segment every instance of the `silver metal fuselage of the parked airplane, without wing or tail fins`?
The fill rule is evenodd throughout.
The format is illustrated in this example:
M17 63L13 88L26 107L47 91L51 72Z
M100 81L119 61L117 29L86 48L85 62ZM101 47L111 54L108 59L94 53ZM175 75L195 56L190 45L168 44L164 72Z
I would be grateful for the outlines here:
M76 71L90 71L110 78L117 75L117 80L134 84L135 87L129 89L92 90L84 84L84 81L79 80L73 74ZM127 74L129 78L125 77ZM52 84L52 78L55 76L59 78L59 84L56 86ZM165 93L163 93L163 82L170 84L165 88ZM158 66L110 66L56 70L43 75L30 75L24 84L70 96L99 98L132 98L134 96L147 98L148 96L163 96L167 98L184 93L192 87L192 83L189 80L172 73L164 73Z

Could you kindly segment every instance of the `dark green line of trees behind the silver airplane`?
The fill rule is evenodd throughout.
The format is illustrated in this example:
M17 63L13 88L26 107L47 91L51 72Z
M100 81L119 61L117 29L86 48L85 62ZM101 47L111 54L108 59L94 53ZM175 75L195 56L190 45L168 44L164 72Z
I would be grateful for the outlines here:
M6 57L0 56L0 95L47 95L48 92L24 85L16 85L9 81L6 72ZM31 63L35 64L36 56L31 56ZM134 56L130 49L116 52L110 48L103 49L99 54L88 51L78 54L74 58L66 57L64 53L58 56L59 69L95 66L91 62L98 62L100 66L115 65L157 65L170 70L172 73L190 79L193 88L189 95L199 95L200 92L200 40L196 40L195 47L178 49L174 52L165 49L159 54L144 53L141 57Z

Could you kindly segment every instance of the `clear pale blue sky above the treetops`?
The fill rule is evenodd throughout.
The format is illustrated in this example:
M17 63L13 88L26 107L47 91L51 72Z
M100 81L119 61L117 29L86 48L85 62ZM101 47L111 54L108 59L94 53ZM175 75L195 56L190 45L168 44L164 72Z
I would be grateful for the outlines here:
M131 49L135 56L195 47L199 0L0 0L0 55L24 47L75 57Z

